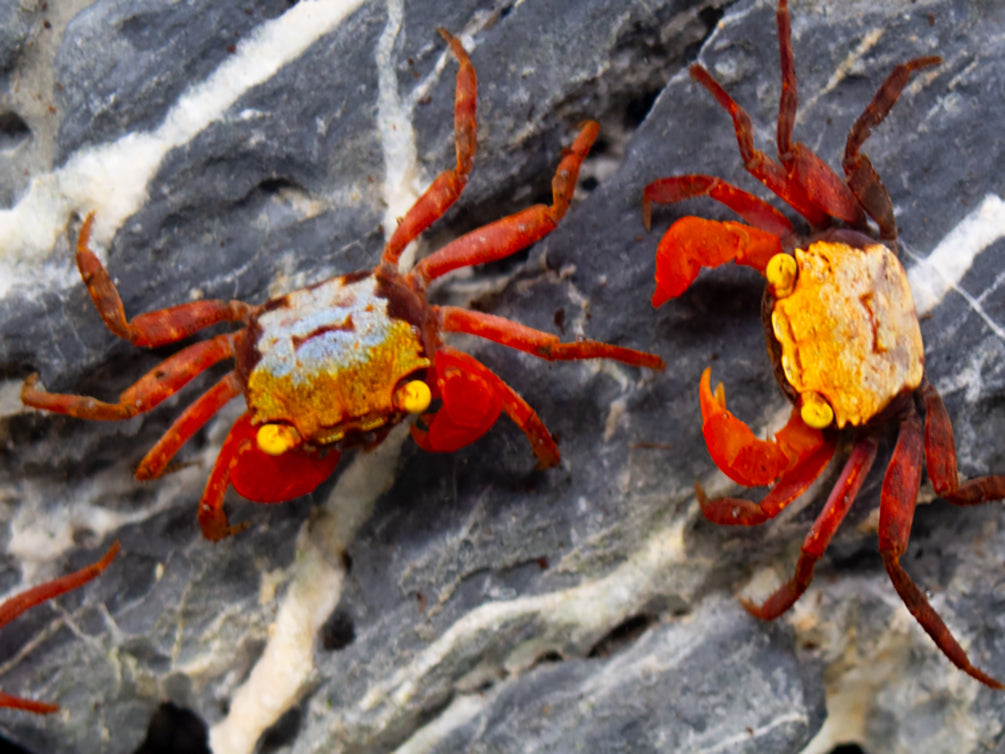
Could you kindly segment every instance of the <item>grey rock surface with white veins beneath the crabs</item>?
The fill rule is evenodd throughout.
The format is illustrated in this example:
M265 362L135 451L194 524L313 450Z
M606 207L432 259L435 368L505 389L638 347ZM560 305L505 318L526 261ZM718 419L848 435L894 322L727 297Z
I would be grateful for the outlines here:
M16 166L0 169L0 592L79 567L113 539L123 554L0 630L0 688L62 708L0 710L4 739L133 752L173 705L205 722L215 754L1005 751L1000 693L938 651L875 552L891 442L814 584L773 623L734 597L789 577L839 466L755 529L713 526L694 501L695 480L739 493L701 439L701 370L762 434L788 406L756 273L727 265L649 305L659 233L685 213L729 213L658 208L646 233L639 202L648 182L682 173L758 190L729 117L686 66L707 65L773 153L773 3L54 5L0 10L0 129ZM961 472L1005 472L1005 8L874 5L793 3L796 138L837 167L893 65L944 57L865 151L913 284L933 291L920 304L927 369ZM79 220L96 210L94 246L131 314L258 303L371 266L382 222L453 163L456 63L437 26L477 70L479 141L466 190L420 254L549 201L584 119L602 139L556 231L444 279L435 301L652 350L667 369L548 364L457 339L539 412L559 468L535 469L505 418L451 454L395 435L347 454L308 498L230 497L231 520L251 527L210 544L197 502L239 406L146 484L133 467L198 387L122 423L20 406L31 371L51 390L114 398L170 353L105 329L72 261ZM1001 504L933 498L923 488L931 505L903 562L971 657L1003 678Z

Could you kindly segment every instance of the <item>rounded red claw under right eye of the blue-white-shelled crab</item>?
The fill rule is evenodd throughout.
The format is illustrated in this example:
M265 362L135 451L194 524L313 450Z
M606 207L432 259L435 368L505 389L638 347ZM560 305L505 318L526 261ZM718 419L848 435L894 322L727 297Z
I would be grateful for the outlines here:
M452 452L478 439L498 419L502 399L494 386L472 368L467 354L440 349L434 370L436 390L443 405L432 414L423 414L428 429L412 425L412 437L423 450ZM477 365L475 363L476 366Z

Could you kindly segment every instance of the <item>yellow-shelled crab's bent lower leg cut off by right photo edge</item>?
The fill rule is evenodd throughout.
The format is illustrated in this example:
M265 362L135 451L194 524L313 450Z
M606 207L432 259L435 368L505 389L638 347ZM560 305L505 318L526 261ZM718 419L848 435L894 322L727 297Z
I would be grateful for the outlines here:
M956 506L976 506L1005 498L1005 476L980 477L962 485L956 468L953 425L942 396L932 383L921 386L925 401L925 458L936 494Z

